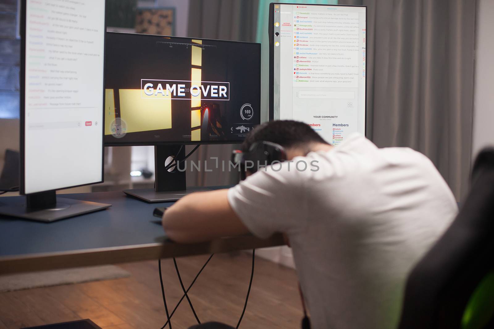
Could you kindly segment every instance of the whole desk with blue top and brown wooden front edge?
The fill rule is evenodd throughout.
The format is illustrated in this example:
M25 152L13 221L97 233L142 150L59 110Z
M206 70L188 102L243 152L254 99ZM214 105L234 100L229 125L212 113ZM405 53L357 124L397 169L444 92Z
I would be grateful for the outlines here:
M151 222L157 219L154 208L172 203L149 204L121 191L57 196L112 207L51 223L0 216L0 275L284 245L281 234L266 240L248 234L177 244L167 241L163 227ZM23 202L23 196L0 198L0 205Z

